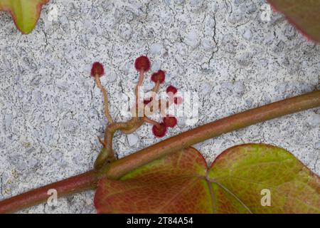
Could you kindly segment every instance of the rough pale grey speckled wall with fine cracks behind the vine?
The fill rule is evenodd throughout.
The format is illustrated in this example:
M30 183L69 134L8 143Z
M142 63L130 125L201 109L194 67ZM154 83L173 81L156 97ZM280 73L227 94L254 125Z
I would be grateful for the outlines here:
M147 54L165 69L166 85L196 91L196 125L319 86L320 46L283 16L263 17L265 1L65 1L44 6L31 35L0 12L0 199L89 170L107 121L89 77L93 61L107 66L102 83L112 115L137 81L134 59ZM262 15L262 16L261 16ZM146 80L146 86L148 86ZM150 87L150 85L149 85ZM308 110L196 145L208 162L226 148L265 142L294 153L320 173L320 110ZM179 120L175 135L194 126ZM144 125L117 135L119 157L158 139ZM41 204L24 213L91 213L93 192Z

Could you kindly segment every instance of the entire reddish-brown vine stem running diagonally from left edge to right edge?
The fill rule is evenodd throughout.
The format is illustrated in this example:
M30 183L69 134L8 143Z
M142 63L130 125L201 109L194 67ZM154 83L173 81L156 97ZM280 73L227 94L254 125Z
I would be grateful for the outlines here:
M36 190L31 190L30 192L23 193L16 197L4 199L0 202L0 213L15 212L19 209L46 202L48 199L47 192L50 189L57 190L58 197L81 192L83 190L94 189L97 186L97 181L102 177L117 179L125 173L145 165L152 160L159 159L160 157L169 155L198 142L208 140L209 138L240 128L245 128L265 120L271 120L283 115L297 113L302 110L319 106L320 90L316 90L312 93L280 100L275 103L270 103L269 105L230 115L227 118L215 120L206 125L202 125L193 130L188 130L185 133L158 142L150 147L146 147L145 149L120 160L115 160L110 165L107 165L100 170L100 173L95 171L85 172L82 175L70 177L69 179L55 182Z

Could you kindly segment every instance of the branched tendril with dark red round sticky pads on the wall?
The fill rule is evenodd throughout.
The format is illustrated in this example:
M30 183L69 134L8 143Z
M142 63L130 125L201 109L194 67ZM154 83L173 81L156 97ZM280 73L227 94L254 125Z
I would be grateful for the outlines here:
M131 134L135 130L137 130L143 123L149 123L153 125L152 133L156 137L164 137L167 132L167 128L174 128L176 126L177 120L174 116L167 116L166 109L169 108L175 102L176 98L173 98L173 95L177 93L177 89L174 86L169 86L166 88L166 92L169 95L169 101L166 100L156 100L156 95L159 93L159 88L162 83L165 81L165 72L164 71L157 71L152 73L151 81L154 82L154 88L152 88L151 97L146 100L142 100L139 95L139 90L142 88L145 73L150 70L151 63L149 58L146 56L140 56L136 59L134 63L135 68L139 72L139 80L137 86L134 90L135 94L135 104L134 104L134 113L135 115L124 123L115 123L112 120L112 116L109 112L109 101L107 96L107 90L100 81L100 77L105 74L105 69L103 68L101 63L95 62L92 65L91 69L91 76L95 78L95 83L97 87L100 88L102 92L102 96L104 99L104 108L105 108L105 117L109 121L107 127L105 128L105 138L104 140L99 139L100 143L102 144L102 150L95 161L95 169L99 170L103 165L109 164L112 160L115 159L114 151L112 150L112 139L114 133L118 130L124 134ZM169 93L170 92L170 93ZM161 105L164 105L165 108L161 108ZM141 113L141 108L143 108L143 113ZM163 121L161 123L156 122L156 120L152 120L149 118L150 115L156 113L160 110L162 116L164 116Z

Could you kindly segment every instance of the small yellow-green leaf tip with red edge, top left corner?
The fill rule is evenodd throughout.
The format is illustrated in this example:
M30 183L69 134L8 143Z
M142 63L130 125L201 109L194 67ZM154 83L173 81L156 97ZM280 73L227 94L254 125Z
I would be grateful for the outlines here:
M9 11L21 33L28 34L36 26L43 4L49 0L0 0L0 11Z

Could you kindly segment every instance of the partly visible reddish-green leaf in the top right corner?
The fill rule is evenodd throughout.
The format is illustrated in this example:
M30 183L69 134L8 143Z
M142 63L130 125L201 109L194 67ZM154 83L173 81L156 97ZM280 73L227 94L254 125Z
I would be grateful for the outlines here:
M320 1L314 0L268 0L284 14L305 36L320 42Z

